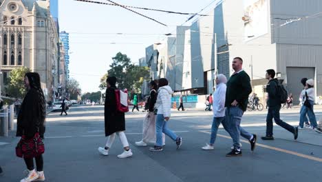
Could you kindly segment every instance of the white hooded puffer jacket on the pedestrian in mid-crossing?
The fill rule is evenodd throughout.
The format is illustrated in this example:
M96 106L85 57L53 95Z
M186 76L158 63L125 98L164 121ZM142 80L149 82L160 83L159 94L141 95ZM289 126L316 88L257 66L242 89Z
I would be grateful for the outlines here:
M158 109L157 114L163 114L164 117L170 117L171 115L171 94L173 91L171 87L164 86L158 90L158 99L155 103L155 108Z

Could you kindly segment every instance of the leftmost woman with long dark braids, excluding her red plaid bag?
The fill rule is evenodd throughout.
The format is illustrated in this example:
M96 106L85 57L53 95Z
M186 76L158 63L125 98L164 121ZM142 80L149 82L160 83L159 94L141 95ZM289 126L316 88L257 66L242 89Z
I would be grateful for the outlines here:
M17 118L17 136L22 140L43 139L45 133L46 101L41 89L39 74L28 72L25 74L25 87L28 92L21 104L21 110ZM35 149L30 149L23 154L23 159L28 168L28 175L21 182L45 181L43 174L43 155ZM36 159L36 171L34 170L34 159Z

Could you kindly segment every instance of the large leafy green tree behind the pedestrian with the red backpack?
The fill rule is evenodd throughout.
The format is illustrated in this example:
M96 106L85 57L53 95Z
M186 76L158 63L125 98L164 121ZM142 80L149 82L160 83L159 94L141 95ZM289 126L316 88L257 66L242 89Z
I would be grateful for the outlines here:
M118 87L140 92L144 79L149 79L149 68L132 64L131 59L121 52L118 52L116 57L112 59L113 63L109 65L110 69L107 71L107 74L118 78ZM103 80L103 78L101 79L101 85L106 80Z

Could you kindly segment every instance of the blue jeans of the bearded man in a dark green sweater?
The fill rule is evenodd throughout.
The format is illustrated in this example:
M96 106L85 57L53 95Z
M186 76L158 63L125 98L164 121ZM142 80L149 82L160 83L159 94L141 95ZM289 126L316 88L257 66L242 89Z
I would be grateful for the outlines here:
M239 107L226 108L226 123L229 127L229 134L233 139L235 149L240 148L239 135L245 139L250 140L253 134L250 134L244 128L240 127L241 117L243 117L244 111Z

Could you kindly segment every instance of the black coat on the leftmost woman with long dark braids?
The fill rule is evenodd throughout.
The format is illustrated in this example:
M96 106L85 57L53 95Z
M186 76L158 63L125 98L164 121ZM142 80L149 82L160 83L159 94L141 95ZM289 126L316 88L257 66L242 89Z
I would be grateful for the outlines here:
M39 128L39 134L43 138L43 134L45 133L45 118L41 117L42 113L39 105L39 93L31 88L25 95L18 114L17 136L25 135L31 139Z

